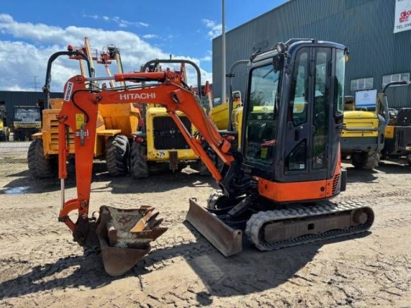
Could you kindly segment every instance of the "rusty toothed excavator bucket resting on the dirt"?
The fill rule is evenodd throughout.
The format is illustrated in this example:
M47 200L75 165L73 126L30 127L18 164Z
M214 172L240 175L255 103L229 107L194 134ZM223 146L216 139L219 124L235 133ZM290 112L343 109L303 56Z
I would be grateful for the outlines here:
M110 276L121 276L150 252L150 242L167 228L153 206L120 209L101 206L96 230L104 268Z

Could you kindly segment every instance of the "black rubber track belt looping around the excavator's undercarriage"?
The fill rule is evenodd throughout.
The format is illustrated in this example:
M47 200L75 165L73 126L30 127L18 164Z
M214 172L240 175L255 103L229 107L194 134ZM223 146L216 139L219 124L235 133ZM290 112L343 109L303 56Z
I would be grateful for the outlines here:
M268 222L327 215L338 213L339 211L353 210L358 208L364 208L365 210L367 210L368 214L367 221L364 224L358 226L351 226L348 229L329 230L322 234L303 235L301 237L274 243L263 243L259 239L259 232L261 227L264 227L264 225ZM363 204L353 201L341 202L339 204L328 202L319 205L296 206L290 209L261 211L257 214L252 215L251 218L247 221L246 235L259 250L272 251L275 249L362 233L371 227L373 221L374 214L372 209L368 206L364 206Z

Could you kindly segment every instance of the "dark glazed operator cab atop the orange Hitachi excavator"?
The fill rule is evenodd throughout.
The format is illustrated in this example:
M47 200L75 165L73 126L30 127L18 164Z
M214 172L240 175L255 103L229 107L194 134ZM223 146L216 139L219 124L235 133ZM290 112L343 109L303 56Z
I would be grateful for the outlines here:
M316 41L286 46L287 53L278 47L252 57L242 123L244 166L274 182L330 179L339 158L347 51Z

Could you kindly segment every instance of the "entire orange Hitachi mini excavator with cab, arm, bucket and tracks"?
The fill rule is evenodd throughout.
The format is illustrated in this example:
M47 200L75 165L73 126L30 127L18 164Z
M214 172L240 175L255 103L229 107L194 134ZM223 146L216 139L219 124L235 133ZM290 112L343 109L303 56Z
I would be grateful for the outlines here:
M190 199L186 219L223 255L241 252L243 238L261 251L271 251L364 232L374 219L370 207L329 201L345 190L346 183L340 133L347 53L337 43L302 39L254 53L248 66L241 152L231 146L231 138L220 136L178 73L167 69L112 78L73 76L64 87L59 115L59 221L80 245L101 247L106 272L112 276L133 267L150 251L150 242L166 231L151 206L101 206L99 213L88 216L98 106L138 101L167 109L221 188L210 196L207 207ZM94 86L103 79L143 84ZM265 112L254 113L258 106ZM178 111L195 125L196 134L184 126ZM76 149L77 198L66 201L70 129ZM220 170L203 149L204 142L223 161ZM72 211L78 213L76 221L69 217Z

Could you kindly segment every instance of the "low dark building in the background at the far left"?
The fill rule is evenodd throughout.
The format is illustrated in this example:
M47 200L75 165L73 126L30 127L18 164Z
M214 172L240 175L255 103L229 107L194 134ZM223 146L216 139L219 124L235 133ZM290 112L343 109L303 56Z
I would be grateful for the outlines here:
M43 92L0 91L0 103L6 103L7 125L14 121L14 106L36 106L39 99L45 98L46 94ZM51 92L50 98L63 98L63 93Z

